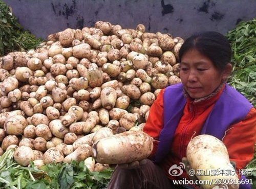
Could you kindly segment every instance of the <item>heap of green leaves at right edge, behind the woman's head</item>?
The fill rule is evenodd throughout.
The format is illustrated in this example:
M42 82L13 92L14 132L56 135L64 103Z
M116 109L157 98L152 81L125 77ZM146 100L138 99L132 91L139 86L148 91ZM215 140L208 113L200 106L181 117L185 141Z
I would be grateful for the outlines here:
M240 22L226 37L233 51L228 82L256 107L256 18Z

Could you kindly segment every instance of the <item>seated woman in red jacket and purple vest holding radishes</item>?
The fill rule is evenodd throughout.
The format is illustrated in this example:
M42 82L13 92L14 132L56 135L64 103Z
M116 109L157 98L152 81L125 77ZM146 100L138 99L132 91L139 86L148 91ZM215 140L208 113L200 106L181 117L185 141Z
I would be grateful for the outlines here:
M173 180L189 177L185 170L174 175L170 168L185 160L190 139L200 134L221 139L236 170L253 158L256 110L226 83L232 70L228 40L217 32L193 35L179 59L182 84L161 90L143 129L155 139L152 161L117 166L109 188L196 188L175 185Z

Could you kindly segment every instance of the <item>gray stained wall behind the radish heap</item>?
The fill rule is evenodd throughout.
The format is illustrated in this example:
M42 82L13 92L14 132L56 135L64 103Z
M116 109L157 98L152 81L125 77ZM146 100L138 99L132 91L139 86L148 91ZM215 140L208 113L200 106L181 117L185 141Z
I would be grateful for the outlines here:
M123 28L188 37L214 30L226 34L240 20L256 17L255 0L4 0L19 23L46 38L66 28L92 27L97 20Z

